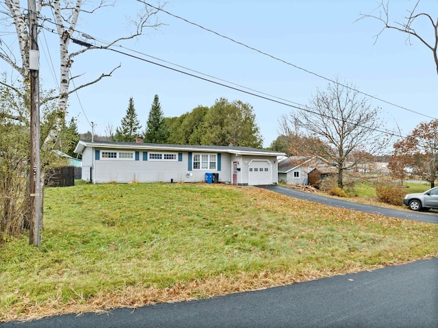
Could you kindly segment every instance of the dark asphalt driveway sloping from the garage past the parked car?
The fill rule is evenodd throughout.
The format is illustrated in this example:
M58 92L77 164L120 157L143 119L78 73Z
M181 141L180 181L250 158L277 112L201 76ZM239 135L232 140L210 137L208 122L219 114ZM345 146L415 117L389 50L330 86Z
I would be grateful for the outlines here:
M279 192L290 197L304 199L305 201L313 201L314 203L322 203L325 205L347 208L349 210L357 210L365 213L382 214L393 218L406 218L409 220L417 220L427 223L438 223L438 212L422 213L414 211L392 210L385 207L378 207L372 205L365 205L360 203L353 203L352 201L344 201L342 199L324 197L319 194L311 194L309 192L302 192L283 186L261 186L260 188Z

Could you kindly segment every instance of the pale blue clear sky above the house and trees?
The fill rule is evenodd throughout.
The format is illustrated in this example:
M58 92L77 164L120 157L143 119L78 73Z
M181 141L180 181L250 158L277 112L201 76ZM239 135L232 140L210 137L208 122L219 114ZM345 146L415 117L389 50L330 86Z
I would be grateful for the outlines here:
M157 16L162 26L146 29L146 35L120 43L123 48L117 49L233 88L257 90L250 92L283 99L281 102L292 105L307 105L318 89L326 88L329 79L339 79L386 101L370 99L372 107L381 108L379 119L387 129L400 129L407 135L419 123L438 118L438 75L432 51L420 41L411 38L409 42L406 34L393 30L383 31L376 40L374 36L382 25L371 18L357 21L360 14L372 13L379 3L372 0L169 0L164 5L167 12L258 51L166 12ZM389 2L394 21L403 21L415 3L413 0ZM141 5L135 0L119 0L114 8L83 15L76 28L79 32L74 36L100 44L126 35L127 16L134 17ZM438 1L423 0L418 10L429 12L436 19ZM427 21L419 21L415 29L428 40L433 37ZM81 33L98 41L84 39ZM59 75L56 36L44 31L39 45L41 88L55 88L54 76ZM83 47L70 47L71 51L80 49ZM155 94L159 96L164 116L168 117L180 116L198 105L210 107L223 97L253 106L263 146L268 147L279 135L279 117L296 110L129 55L93 50L75 58L71 73L80 76L70 87L87 83L121 64L112 77L70 94L68 115L77 117L80 133L91 131L91 122L99 135L104 135L110 125L116 129L126 114L130 97L142 127L146 125ZM5 71L3 67L5 63L0 62L0 71Z

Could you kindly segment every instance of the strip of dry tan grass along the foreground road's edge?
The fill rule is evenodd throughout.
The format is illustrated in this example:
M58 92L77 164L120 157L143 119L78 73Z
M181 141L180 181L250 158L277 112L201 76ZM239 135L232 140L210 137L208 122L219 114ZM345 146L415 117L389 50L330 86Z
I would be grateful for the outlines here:
M435 254L438 255L438 254ZM423 257L424 260L434 256ZM170 288L136 288L128 286L127 288L117 292L106 292L96 295L92 299L79 299L70 303L60 303L59 300L53 299L44 303L35 304L29 302L23 314L9 313L8 316L2 318L3 321L29 321L38 320L47 316L55 316L61 314L77 314L81 315L86 312L106 313L120 307L135 309L145 305L153 305L155 303L177 303L184 301L193 301L196 299L208 299L211 297L220 297L227 294L237 292L248 292L255 290L263 290L276 286L285 286L292 283L302 281L311 281L335 275L346 275L348 273L358 273L363 270L376 270L387 265L406 264L406 261L391 262L387 264L372 265L372 266L352 266L342 270L335 271L320 271L311 270L307 274L276 272L272 273L268 270L263 271L259 275L247 275L240 273L237 277L227 277L219 275L213 279L196 279L188 284L177 283Z

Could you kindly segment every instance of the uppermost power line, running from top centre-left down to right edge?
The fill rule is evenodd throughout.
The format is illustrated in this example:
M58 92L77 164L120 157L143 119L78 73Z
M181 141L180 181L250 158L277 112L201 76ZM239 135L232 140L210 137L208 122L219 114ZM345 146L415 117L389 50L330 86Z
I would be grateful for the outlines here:
M144 5L149 5L149 7L154 8L155 10L159 10L159 11L165 12L166 14L168 14L168 15L170 15L170 16L173 16L173 17L175 17L175 18L181 19L181 21L185 21L186 23L189 23L189 24L191 24L191 25L194 25L194 26L196 26L196 27L199 27L199 28L201 28L201 29L204 29L205 31L209 31L210 33L216 34L216 36L220 36L220 38L224 38L224 39L230 40L231 42L234 42L234 43L236 43L237 45L241 45L241 46L246 47L246 48L248 48L248 49L250 49L250 50L253 50L253 51L256 51L256 52L258 52L258 53L261 53L262 55L266 55L266 56L268 56L268 57L270 57L270 58L272 58L272 59L274 59L274 60L278 60L279 62L283 62L283 64L287 64L287 65L289 65L289 66L293 66L294 68L297 68L297 69L299 69L299 70L301 70L301 71L304 71L305 73L309 73L309 74L314 75L314 76L316 76L316 77L320 77L321 79L325 79L326 81L330 81L330 82L332 82L332 83L334 83L334 84L337 84L337 85L339 85L339 86L343 86L344 88L348 88L348 89L353 90L353 91L355 91L355 92L359 92L359 93L361 93L361 94L363 94L363 95L365 95L365 96L367 96L367 97L370 97L370 98L372 98L372 99L376 99L376 100L378 100L378 101L382 101L383 103L387 103L388 105L392 105L392 106L397 107L397 108L400 108L400 109L402 109L402 110L407 110L408 112L412 112L412 113L414 113L414 114L418 114L418 115L425 116L425 117L427 117L427 118L435 119L435 117L428 116L428 115L426 115L426 114L422 114L422 113L420 113L420 112L415 112L415 110L409 110L409 108L404 108L404 107L402 107L402 106L400 106L400 105L397 105L397 104L395 104L395 103L391 103L390 101L386 101L386 100L380 99L380 98L378 98L378 97L373 96L372 94L368 94L368 93L366 93L366 92L362 92L362 91L357 90L357 89L355 89L355 88L352 88L352 87L350 87L350 86L347 86L347 85L341 84L341 83L339 83L338 81L335 81L335 80L333 80L333 79L329 79L328 77L324 77L324 76L322 76L322 75L320 75L320 74L317 74L317 73L314 73L314 72L312 72L312 71L309 71L309 70L306 69L306 68L302 68L302 67L300 67L300 66L298 66L298 65L296 65L296 64L292 64L291 62L287 62L286 60L283 60L283 59L281 59L281 58L275 57L274 55L270 55L269 53L266 53L266 52L264 52L264 51L261 51L261 50L259 50L259 49L254 48L254 47L250 47L250 46L246 45L246 44L243 43L243 42L240 42L240 41L234 40L233 38L230 38L229 36L224 36L223 34L220 34L220 33L216 32L216 31L214 31L214 30L212 30L212 29L208 29L207 27L203 27L202 25L199 25L199 24L197 24L197 23L193 23L192 21L188 21L188 19L185 19L185 18L183 18L183 17L181 17L181 16L177 16L177 15L175 15L175 14L172 14L172 13L170 13L170 12L164 10L163 8L157 8L157 7L155 7L154 5L151 5L150 3L147 3L146 1L143 1L143 0L137 0L137 1L140 2L140 3L144 3Z

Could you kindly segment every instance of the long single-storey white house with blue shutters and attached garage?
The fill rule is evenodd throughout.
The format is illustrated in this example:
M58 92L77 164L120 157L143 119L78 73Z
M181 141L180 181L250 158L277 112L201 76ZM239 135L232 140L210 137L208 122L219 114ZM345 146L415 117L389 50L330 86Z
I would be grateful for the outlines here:
M277 151L249 147L186 146L79 140L82 179L108 182L222 182L240 186L276 184ZM213 177L213 179L211 179Z

